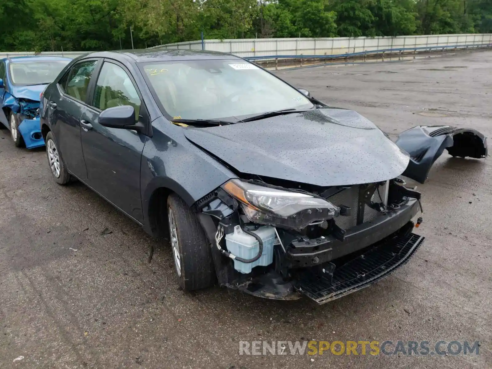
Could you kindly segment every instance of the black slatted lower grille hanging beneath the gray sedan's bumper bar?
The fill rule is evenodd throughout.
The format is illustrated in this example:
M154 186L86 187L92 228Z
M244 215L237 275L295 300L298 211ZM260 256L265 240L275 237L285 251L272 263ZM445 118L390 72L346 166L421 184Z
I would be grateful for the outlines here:
M424 237L414 233L390 236L336 268L332 278L320 277L307 269L299 276L296 288L318 304L338 299L388 276L405 264L424 240Z

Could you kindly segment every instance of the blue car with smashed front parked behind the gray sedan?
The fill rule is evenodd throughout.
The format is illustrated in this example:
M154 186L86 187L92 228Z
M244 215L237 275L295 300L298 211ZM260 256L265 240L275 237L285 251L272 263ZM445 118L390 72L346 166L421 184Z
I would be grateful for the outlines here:
M0 123L10 129L15 146L44 146L39 95L70 60L41 56L0 60Z

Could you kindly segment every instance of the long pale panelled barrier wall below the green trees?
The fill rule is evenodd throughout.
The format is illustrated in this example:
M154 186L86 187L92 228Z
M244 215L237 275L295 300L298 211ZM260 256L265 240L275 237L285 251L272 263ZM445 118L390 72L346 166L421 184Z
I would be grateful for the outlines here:
M152 48L211 50L240 57L274 55L339 55L385 49L432 46L492 44L492 33L432 34L398 37L334 37L334 38L245 38L177 42ZM152 49L151 48L151 49ZM76 58L86 52L42 52L39 55ZM34 55L33 52L0 52L5 57Z

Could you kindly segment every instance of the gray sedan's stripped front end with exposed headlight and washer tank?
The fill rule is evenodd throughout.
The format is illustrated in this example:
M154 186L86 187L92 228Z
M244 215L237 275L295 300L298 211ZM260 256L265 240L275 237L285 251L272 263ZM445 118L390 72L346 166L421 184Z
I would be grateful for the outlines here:
M233 179L195 203L220 285L319 304L404 264L424 240L412 233L419 210L420 193L400 179L307 188Z

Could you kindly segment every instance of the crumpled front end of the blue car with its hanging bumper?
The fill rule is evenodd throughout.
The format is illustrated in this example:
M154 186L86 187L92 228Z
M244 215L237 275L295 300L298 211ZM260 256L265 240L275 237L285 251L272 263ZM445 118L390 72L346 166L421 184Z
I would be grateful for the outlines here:
M44 146L39 120L39 101L26 98L15 98L8 94L4 98L3 107L17 115L19 130L27 149ZM3 118L3 117L2 117ZM3 119L2 119L3 122ZM5 117L8 127L8 117Z

